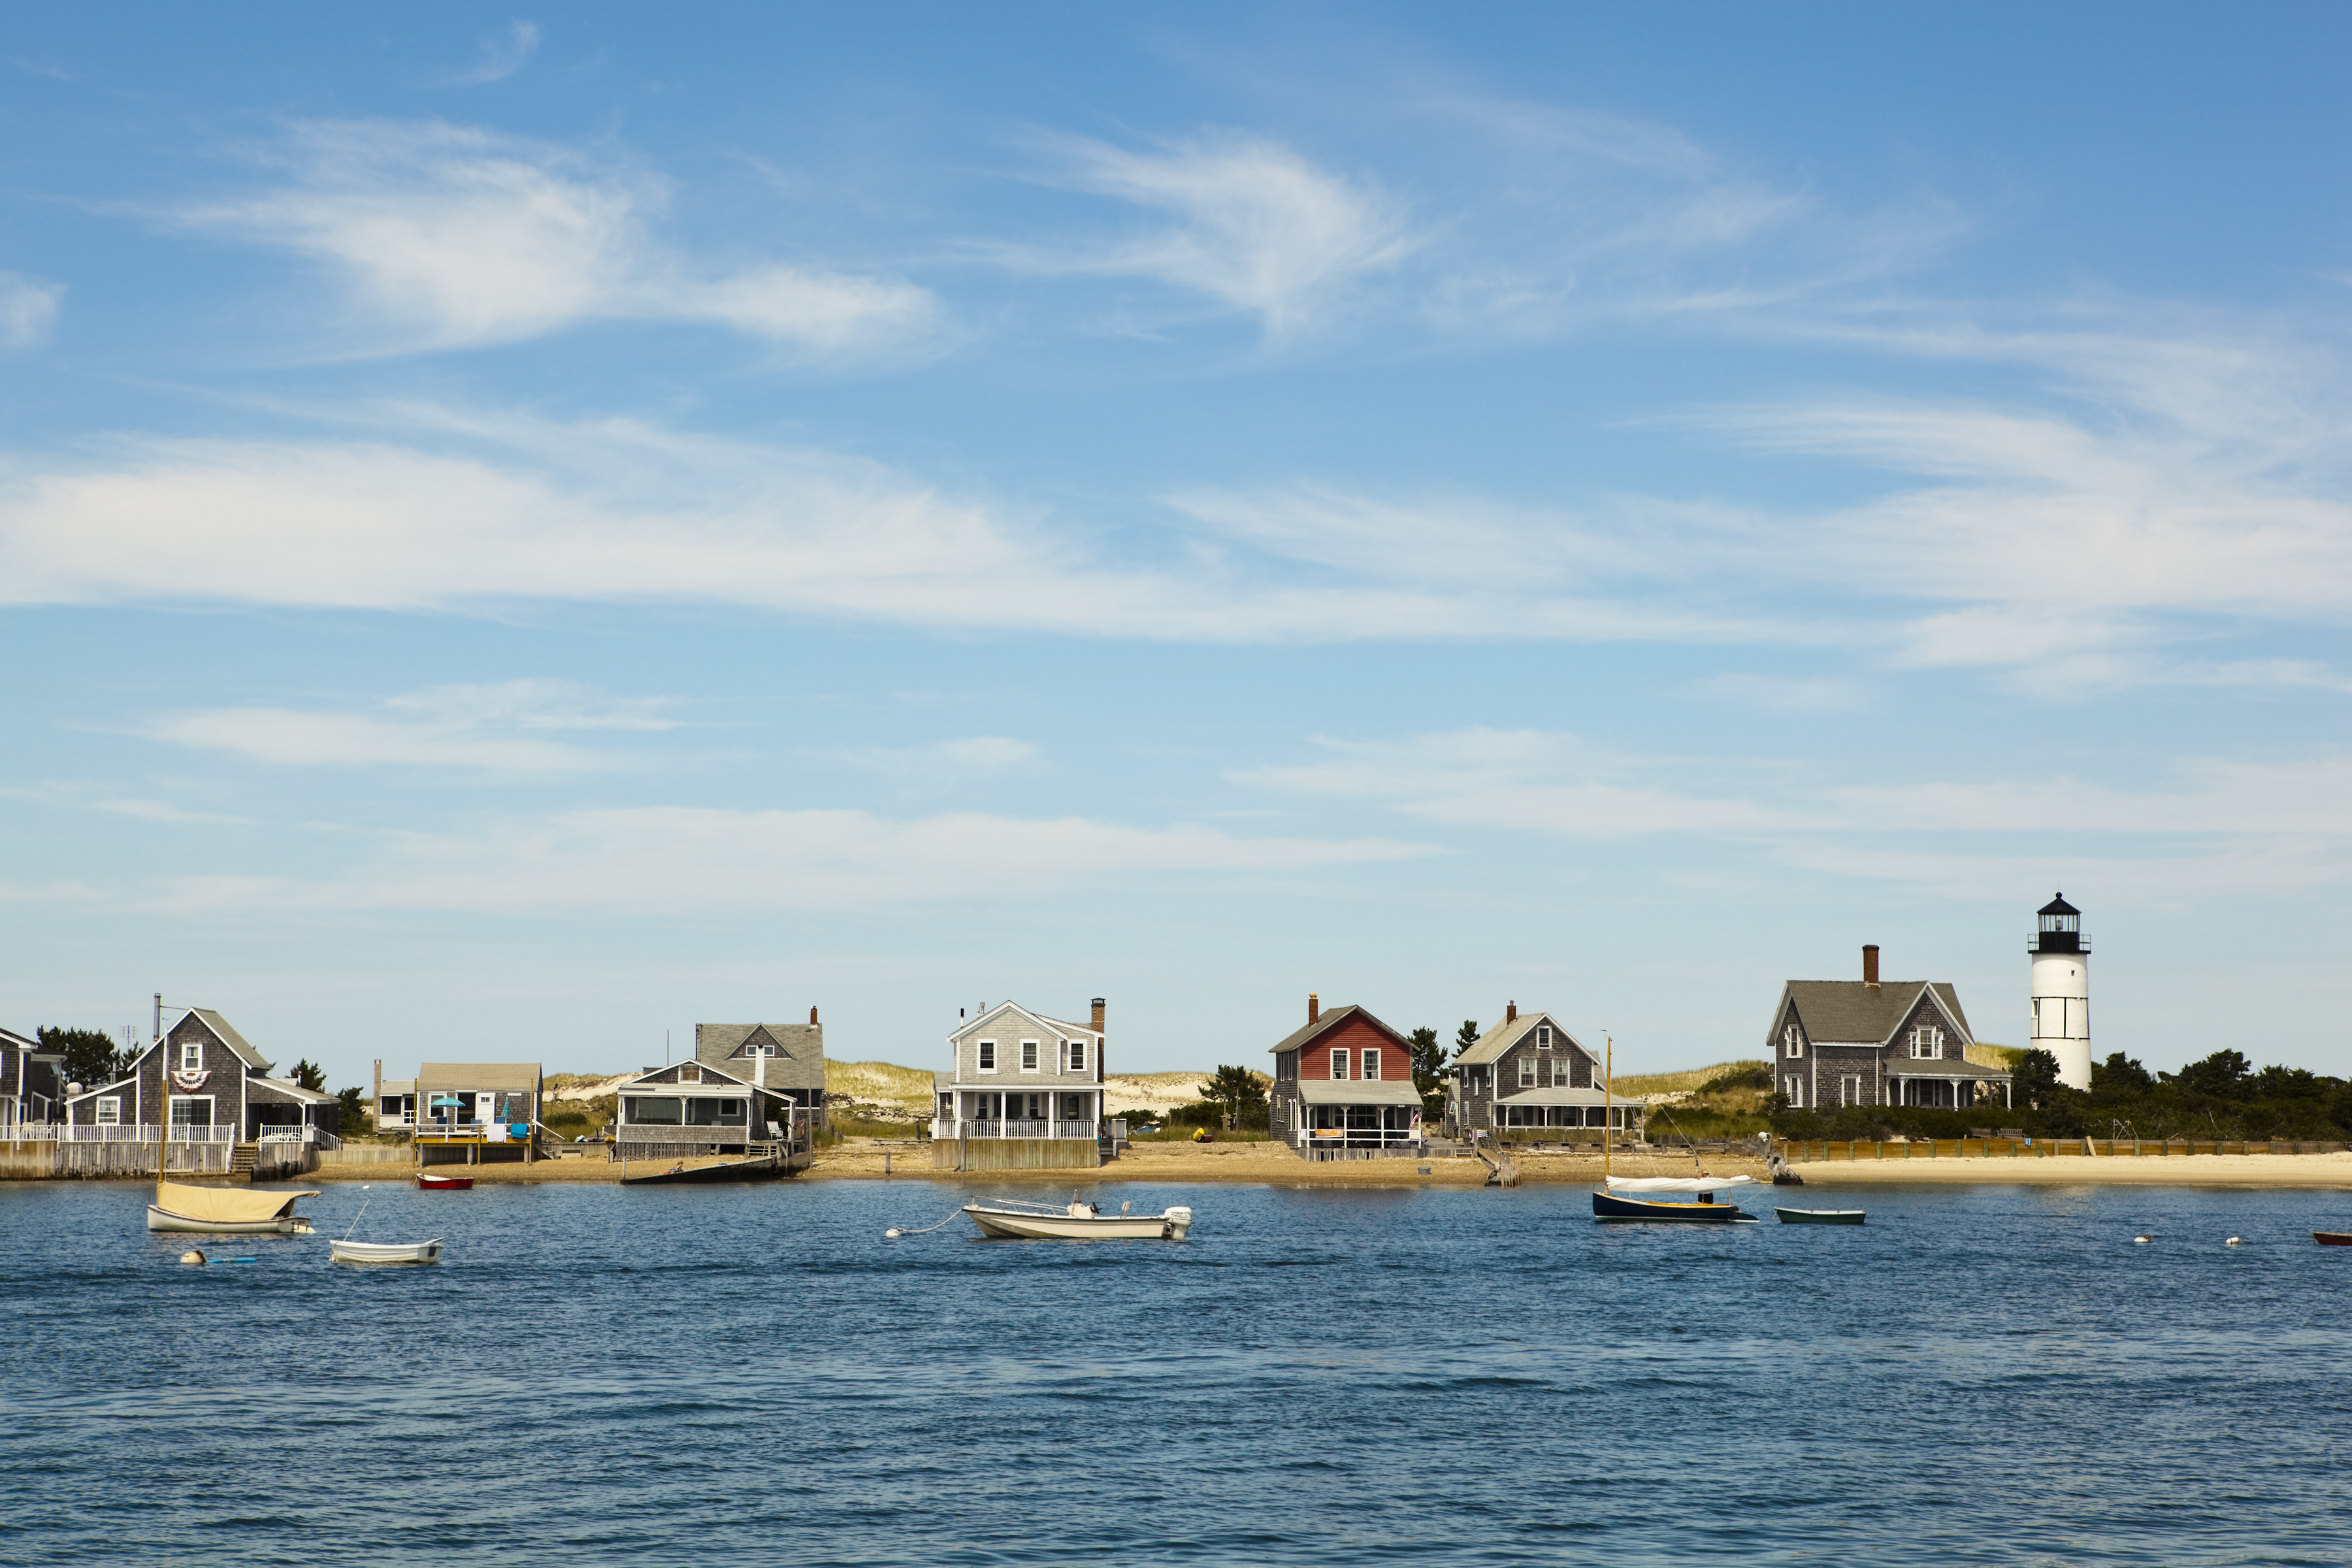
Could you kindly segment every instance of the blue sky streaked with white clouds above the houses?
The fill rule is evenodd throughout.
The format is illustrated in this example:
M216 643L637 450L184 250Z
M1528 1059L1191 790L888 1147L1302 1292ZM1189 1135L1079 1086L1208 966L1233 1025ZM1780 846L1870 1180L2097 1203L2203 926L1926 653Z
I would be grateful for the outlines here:
M2352 12L14 7L0 1023L2352 1072Z

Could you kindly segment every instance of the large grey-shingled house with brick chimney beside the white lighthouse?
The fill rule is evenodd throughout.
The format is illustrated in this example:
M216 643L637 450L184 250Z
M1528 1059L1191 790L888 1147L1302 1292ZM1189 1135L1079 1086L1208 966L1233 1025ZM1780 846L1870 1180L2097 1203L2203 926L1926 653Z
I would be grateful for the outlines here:
M1969 1110L2011 1103L2002 1067L1969 1060L1969 1016L1945 980L1879 980L1877 943L1860 980L1790 980L1766 1048L1773 1088L1799 1110L1924 1105Z

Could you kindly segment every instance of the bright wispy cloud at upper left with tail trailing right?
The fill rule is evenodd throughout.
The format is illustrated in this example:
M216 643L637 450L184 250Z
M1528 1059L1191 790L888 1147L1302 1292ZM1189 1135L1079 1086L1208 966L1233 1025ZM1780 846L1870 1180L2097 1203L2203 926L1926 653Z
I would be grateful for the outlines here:
M586 320L684 320L804 355L889 355L941 324L896 277L696 266L654 235L644 169L442 122L308 122L266 150L285 181L191 205L198 228L325 263L350 289L348 350L510 343Z

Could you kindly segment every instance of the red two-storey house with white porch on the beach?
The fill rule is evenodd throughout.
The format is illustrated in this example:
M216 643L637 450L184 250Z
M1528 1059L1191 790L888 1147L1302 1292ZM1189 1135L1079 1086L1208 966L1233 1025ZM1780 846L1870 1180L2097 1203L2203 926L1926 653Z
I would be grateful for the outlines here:
M1411 1044L1359 1006L1322 1011L1275 1046L1268 1128L1308 1159L1421 1152Z

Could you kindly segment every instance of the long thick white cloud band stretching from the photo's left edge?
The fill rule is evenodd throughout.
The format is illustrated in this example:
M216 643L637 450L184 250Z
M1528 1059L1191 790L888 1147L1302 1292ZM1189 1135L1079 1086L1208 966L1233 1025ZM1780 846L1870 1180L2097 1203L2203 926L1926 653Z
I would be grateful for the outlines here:
M1054 527L828 454L435 407L376 411L376 428L405 440L122 442L0 475L0 602L724 602L1223 642L1740 635L1515 574L1501 545L1479 583L1432 576L1404 543L1350 564L1296 520L1251 524L1249 559L1110 557L1091 520Z

